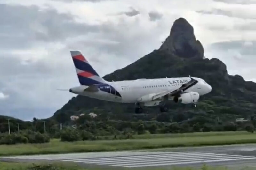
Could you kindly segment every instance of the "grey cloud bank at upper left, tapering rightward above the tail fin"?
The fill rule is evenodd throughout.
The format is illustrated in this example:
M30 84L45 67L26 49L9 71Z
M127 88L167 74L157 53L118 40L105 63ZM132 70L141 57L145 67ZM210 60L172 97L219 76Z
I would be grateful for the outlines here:
M96 26L78 24L73 21L74 16L58 14L54 9L42 11L36 6L0 4L0 11L0 38L5 40L0 41L2 49L23 49L40 42L63 41L81 33L97 31Z

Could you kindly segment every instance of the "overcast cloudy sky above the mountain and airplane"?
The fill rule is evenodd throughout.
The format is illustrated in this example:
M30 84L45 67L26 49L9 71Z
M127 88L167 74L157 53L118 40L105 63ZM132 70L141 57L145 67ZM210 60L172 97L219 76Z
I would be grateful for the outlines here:
M256 0L0 0L0 115L46 118L78 85L69 50L104 76L136 61L186 18L207 58L256 82Z

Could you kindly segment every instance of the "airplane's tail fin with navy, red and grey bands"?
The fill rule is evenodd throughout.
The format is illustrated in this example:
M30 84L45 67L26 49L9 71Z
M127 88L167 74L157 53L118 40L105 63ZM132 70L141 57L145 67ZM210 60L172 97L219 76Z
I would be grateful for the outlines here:
M92 68L80 51L70 51L76 67L76 73L81 85L95 85L105 82L99 74Z

